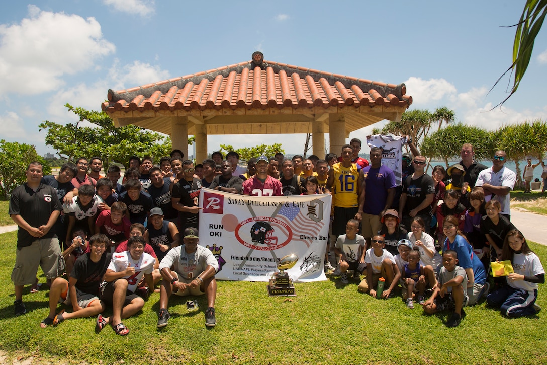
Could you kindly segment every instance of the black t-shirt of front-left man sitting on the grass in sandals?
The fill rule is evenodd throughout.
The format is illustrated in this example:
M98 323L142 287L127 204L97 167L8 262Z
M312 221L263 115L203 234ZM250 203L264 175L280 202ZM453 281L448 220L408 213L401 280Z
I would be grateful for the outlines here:
M104 252L98 263L91 261L91 253L80 256L74 263L70 276L78 280L76 288L87 294L99 294L99 284L112 260L112 254Z

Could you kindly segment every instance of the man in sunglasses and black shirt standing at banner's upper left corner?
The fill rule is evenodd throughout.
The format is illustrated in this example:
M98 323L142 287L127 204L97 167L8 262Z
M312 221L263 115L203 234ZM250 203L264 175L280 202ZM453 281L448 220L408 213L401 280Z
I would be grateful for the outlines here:
M171 159L173 166L174 159ZM179 160L175 161L180 163ZM177 178L179 175L177 174ZM197 213L201 208L198 207L198 197L200 196L201 180L194 177L194 163L189 159L182 162L181 179L173 186L171 192L171 203L173 208L177 209L180 218L179 232L187 227L197 227ZM176 180L175 180L176 181Z

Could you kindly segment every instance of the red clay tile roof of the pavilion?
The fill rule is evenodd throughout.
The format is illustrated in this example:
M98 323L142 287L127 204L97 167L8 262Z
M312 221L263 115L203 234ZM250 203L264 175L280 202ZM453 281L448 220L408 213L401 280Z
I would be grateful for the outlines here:
M253 55L254 56L254 55ZM107 113L147 110L396 106L408 108L405 84L386 84L304 67L253 61L130 89L108 90Z

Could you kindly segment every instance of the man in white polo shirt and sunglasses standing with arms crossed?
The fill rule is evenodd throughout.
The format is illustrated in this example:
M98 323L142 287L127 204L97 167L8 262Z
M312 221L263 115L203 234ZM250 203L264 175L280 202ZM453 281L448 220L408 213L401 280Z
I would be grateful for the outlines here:
M502 206L499 214L510 219L509 192L515 187L516 174L505 168L505 161L507 161L507 153L502 150L496 151L492 158L492 167L479 173L475 187L482 187L486 202L492 199L497 200Z

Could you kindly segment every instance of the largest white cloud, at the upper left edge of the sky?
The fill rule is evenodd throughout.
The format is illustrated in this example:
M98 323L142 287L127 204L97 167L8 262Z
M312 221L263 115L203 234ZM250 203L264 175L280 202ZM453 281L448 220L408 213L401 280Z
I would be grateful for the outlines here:
M62 76L88 70L113 53L95 18L28 6L30 18L0 25L0 95L39 94L59 88Z

